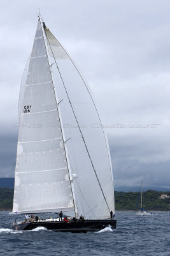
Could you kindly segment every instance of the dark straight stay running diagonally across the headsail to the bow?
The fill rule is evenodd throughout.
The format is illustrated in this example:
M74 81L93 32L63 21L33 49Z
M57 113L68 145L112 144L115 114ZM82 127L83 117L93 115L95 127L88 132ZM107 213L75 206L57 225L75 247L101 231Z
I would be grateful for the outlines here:
M45 34L46 34L46 33L45 33ZM47 38L47 40L48 40L47 35L46 35L46 38ZM48 44L50 45L49 40L48 40ZM52 51L51 45L50 45L50 49L51 49L51 51ZM52 51L52 54L53 54L53 51ZM55 60L55 56L54 56L54 55L53 55L53 58L54 58L54 60ZM106 205L107 205L107 207L108 207L108 210L110 211L110 207L109 207L109 205L108 205L108 202L107 202L107 200L106 200L106 197L104 196L103 189L101 188L101 184L100 184L100 182L99 182L99 178L97 177L97 173L96 173L96 170L95 170L95 168L94 168L94 164L93 164L93 162L92 162L92 159L91 159L89 150L88 150L88 148L87 148L87 144L86 144L85 139L84 139L84 137L83 137L83 134L82 134L82 132L81 132L80 125L79 125L78 120L77 120L77 118L76 118L76 115L75 115L75 113L74 113L73 105L71 104L71 100L69 99L69 95L68 95L68 93L67 93L67 89L66 89L66 86L65 86L65 84L64 84L64 81L63 81L63 79L62 79L62 76L61 76L61 74L60 74L60 70L59 70L59 67L58 67L58 65L57 65L57 61L56 61L56 60L55 60L55 64L56 64L57 69L58 69L58 71L59 71L60 79L61 79L62 84L63 84L63 86L64 86L64 89L65 89L65 91L66 91L66 95L67 95L67 98L68 98L68 100L69 100L69 104L70 104L71 109L72 109L72 111L73 111L73 115L74 115L74 118L75 118L76 123L77 123L77 125L78 125L78 129L79 129L79 131L80 131L80 134L81 134L83 143L84 143L85 148L86 148L86 150L87 150L87 154L88 154L89 159L90 159L90 162L91 162L91 164L92 164L92 168L93 168L94 173L95 173L95 175L96 175L97 182L99 183L99 187L100 187L101 192L102 192L102 194L103 194L104 200L106 201Z

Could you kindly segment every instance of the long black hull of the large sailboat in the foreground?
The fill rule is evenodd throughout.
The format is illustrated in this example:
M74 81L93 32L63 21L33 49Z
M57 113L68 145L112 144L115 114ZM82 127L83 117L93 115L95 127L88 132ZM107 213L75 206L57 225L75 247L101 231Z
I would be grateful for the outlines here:
M116 228L116 220L85 220L85 221L42 221L42 222L25 222L13 225L13 230L32 230L37 227L45 227L55 232L89 232L99 231L108 225Z

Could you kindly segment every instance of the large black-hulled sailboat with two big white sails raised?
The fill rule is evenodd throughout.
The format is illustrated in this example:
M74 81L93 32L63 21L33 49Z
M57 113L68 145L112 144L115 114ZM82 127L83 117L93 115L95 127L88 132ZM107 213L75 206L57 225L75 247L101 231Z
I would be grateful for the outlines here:
M16 218L13 230L116 228L110 149L99 113L87 82L40 14L19 118L10 214L25 220ZM47 213L56 218L40 217Z

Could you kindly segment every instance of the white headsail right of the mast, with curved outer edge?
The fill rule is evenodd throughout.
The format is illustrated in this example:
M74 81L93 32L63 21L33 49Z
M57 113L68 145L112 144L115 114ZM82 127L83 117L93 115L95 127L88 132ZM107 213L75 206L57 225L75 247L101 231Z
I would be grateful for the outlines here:
M49 29L45 28L45 34L62 127L65 138L70 138L66 148L71 172L77 177L73 184L78 214L91 219L109 217L110 211L115 213L113 177L101 120L73 61Z

